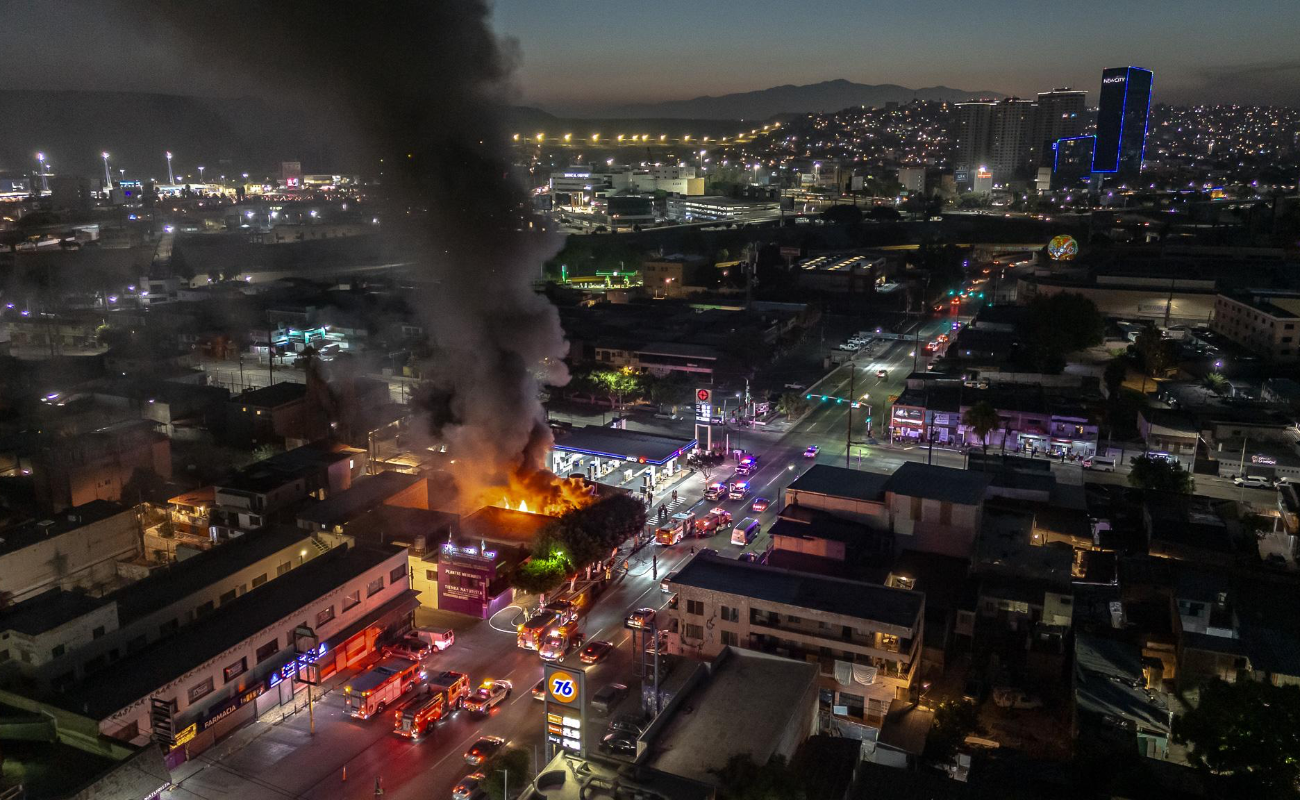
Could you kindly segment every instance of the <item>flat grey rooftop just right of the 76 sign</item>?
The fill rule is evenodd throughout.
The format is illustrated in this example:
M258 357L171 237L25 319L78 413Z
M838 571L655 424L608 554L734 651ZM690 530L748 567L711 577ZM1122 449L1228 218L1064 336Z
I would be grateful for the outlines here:
M812 663L727 648L654 739L646 764L703 783L716 783L715 771L732 756L749 753L766 764L797 725L801 699L811 714L816 674Z

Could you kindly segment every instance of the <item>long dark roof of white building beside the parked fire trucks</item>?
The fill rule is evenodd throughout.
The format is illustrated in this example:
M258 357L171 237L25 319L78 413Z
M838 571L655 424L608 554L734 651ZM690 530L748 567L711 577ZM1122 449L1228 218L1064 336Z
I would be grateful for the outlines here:
M70 712L103 719L177 680L250 636L365 574L399 553L400 548L364 545L335 548L290 570L213 613L181 628L101 673L96 673L51 701Z

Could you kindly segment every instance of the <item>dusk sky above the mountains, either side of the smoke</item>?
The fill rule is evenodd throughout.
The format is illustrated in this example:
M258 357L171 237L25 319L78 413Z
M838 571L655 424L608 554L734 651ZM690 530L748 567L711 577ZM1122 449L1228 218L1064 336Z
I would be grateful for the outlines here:
M186 59L110 5L0 0L0 88L259 92ZM846 78L1096 96L1101 69L1156 72L1157 101L1300 105L1295 0L497 0L517 100L549 109L688 99ZM364 42L358 43L364 47Z

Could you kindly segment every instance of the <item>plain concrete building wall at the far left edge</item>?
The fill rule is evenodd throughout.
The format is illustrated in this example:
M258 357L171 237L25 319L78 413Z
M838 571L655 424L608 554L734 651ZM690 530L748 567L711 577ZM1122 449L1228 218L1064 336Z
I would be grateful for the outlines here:
M51 587L90 587L114 579L118 559L139 554L139 526L127 509L0 555L0 592L18 602Z

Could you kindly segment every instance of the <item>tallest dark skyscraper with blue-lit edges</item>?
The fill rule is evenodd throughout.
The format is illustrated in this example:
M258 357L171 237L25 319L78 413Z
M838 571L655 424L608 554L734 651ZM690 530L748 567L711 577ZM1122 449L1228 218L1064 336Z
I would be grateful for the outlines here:
M1097 146L1092 172L1136 178L1147 148L1152 73L1139 66L1115 66L1101 73Z

